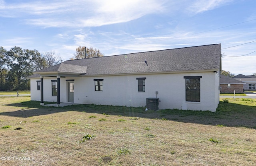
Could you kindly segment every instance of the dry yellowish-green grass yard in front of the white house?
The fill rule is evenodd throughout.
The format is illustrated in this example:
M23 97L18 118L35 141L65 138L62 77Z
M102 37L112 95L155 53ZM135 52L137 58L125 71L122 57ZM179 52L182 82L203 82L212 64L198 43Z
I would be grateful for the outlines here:
M0 138L1 166L255 166L256 100L212 113L5 97Z

